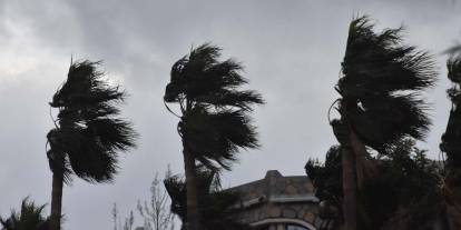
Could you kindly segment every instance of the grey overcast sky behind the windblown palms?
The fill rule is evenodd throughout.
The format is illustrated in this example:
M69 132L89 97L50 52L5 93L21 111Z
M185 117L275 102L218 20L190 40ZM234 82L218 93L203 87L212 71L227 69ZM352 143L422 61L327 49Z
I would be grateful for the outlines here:
M155 172L168 163L183 171L178 120L163 94L171 64L203 42L242 61L248 87L267 101L254 112L262 148L243 151L224 186L261 179L268 169L303 174L308 158L323 159L336 142L326 112L339 97L333 87L356 13L370 14L379 29L405 24L405 41L437 56L441 80L428 94L434 126L420 143L437 158L449 112L447 57L440 53L461 38L460 10L457 0L0 0L0 214L26 196L50 202L48 101L71 54L104 60L108 76L130 93L124 117L141 138L138 149L121 156L114 183L75 179L65 188L66 230L111 229L114 202L127 214L148 198Z

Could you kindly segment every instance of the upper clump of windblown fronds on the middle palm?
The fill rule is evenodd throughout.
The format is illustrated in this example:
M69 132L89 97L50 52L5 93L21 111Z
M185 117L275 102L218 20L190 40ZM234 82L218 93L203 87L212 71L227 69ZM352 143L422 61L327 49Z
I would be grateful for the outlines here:
M241 76L243 67L235 60L219 62L220 49L205 43L182 59L171 68L165 101L194 101L206 107L237 107L251 110L253 103L263 103L261 94L239 91L247 83Z

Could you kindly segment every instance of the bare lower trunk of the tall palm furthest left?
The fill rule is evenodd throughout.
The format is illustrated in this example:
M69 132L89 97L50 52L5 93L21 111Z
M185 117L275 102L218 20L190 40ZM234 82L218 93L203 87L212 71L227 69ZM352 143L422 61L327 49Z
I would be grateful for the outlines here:
M62 174L52 173L50 230L61 229L62 184Z

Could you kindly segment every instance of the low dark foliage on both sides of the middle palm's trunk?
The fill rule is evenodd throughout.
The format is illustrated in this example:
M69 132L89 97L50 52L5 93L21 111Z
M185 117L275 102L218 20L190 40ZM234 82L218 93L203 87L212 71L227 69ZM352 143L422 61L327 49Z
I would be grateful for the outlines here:
M224 191L220 189L218 176L215 172L199 169L198 178L198 204L204 230L245 230L251 229L248 226L239 223L235 219L237 209L233 208L238 203L237 193ZM171 177L164 181L165 187L171 198L171 212L177 214L183 221L183 228L187 222L186 219L186 184L178 176Z

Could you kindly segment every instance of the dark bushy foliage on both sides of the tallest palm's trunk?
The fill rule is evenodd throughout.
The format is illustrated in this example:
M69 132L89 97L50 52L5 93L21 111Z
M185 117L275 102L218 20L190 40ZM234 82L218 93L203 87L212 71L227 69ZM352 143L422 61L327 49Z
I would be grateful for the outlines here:
M431 229L444 227L441 209L440 166L414 147L400 141L386 156L375 158L379 173L359 196L360 229ZM310 160L306 173L322 200L321 217L339 229L342 210L342 167L339 147L332 147L325 163ZM443 229L443 228L442 228Z

